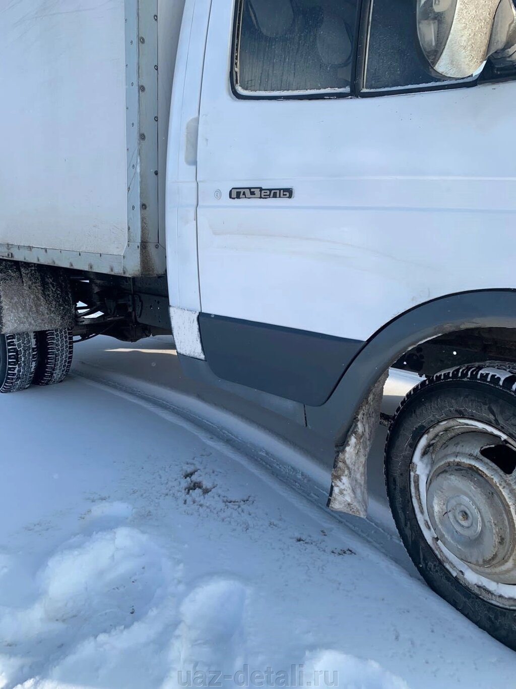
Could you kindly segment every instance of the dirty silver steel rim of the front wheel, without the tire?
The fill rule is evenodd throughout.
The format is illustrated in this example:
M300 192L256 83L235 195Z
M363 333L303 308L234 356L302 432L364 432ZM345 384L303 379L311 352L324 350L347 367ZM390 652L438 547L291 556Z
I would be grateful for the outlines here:
M409 487L424 538L451 575L516 608L516 441L471 419L440 422L413 452Z

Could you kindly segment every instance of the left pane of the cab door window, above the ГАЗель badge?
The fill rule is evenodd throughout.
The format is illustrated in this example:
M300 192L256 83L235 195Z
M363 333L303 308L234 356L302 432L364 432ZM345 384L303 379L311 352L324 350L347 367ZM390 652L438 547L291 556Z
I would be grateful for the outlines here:
M350 92L357 0L239 0L237 95Z

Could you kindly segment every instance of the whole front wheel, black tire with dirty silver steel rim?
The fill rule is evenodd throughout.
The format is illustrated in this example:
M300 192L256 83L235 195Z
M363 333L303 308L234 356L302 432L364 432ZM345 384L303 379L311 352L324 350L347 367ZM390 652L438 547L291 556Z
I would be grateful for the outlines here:
M405 548L429 586L516 650L516 367L425 380L391 424L385 478Z

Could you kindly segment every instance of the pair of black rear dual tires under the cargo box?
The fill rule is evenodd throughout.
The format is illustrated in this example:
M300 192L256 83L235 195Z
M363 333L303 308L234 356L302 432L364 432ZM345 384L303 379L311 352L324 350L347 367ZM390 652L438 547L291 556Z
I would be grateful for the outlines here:
M68 330L0 335L0 393L65 380L73 351Z

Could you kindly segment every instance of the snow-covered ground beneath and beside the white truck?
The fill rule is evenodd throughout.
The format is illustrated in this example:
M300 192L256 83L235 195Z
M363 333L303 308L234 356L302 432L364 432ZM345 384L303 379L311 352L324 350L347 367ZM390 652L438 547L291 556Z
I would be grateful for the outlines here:
M0 397L1 687L515 686L513 652L325 511L308 453L195 415L155 345L103 379L124 352L99 342Z

